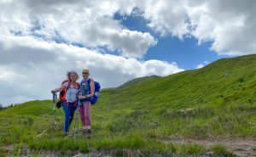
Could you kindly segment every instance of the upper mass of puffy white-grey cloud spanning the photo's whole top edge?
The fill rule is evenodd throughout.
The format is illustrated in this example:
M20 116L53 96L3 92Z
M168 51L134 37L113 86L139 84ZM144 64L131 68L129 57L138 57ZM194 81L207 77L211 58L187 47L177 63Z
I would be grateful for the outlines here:
M0 32L58 38L142 58L157 39L113 20L117 12L130 15L138 8L162 36L194 36L199 44L212 42L211 49L219 54L242 55L256 53L255 5L253 0L2 1Z

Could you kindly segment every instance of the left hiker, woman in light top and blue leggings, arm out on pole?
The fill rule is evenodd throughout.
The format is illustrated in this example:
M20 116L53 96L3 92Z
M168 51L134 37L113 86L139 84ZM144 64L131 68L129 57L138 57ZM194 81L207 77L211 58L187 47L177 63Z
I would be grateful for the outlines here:
M75 71L67 72L68 81L65 82L61 87L55 88L51 93L58 93L61 91L66 92L66 101L63 103L63 109L65 113L64 121L64 136L68 134L68 128L70 126L70 117L73 116L74 111L77 109L78 105L78 93L79 93L79 75Z

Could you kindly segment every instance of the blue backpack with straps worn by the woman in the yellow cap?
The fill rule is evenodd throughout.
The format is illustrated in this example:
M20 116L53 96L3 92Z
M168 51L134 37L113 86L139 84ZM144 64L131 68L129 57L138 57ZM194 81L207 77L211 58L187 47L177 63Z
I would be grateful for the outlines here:
M88 79L88 81L84 82L82 81L81 82L81 85L80 87L83 87L83 83L86 83L87 86L89 87L89 93L86 93L86 94L90 94L90 79ZM91 98L86 98L86 100L89 100L91 104L96 104L96 101L98 100L99 98L99 93L100 93L100 89L101 89L101 85L99 82L97 81L94 81L94 86L95 86L95 90L94 90L94 95L93 97ZM80 88L81 89L81 88ZM82 93L83 94L83 93ZM84 94L83 94L84 95Z

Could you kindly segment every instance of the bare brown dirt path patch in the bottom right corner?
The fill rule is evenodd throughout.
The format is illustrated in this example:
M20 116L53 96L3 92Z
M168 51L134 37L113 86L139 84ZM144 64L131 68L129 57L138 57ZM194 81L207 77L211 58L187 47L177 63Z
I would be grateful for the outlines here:
M211 148L211 146L216 144L222 144L232 150L239 157L251 157L256 156L256 139L238 139L238 138L227 138L218 137L214 139L183 139L183 138L171 138L169 140L163 140L163 143L195 143L203 145L206 148Z

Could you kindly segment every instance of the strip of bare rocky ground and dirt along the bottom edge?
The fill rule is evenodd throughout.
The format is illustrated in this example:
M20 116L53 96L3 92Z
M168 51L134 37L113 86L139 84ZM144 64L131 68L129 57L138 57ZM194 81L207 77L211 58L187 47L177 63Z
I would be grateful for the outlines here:
M168 140L163 140L163 143L177 143L177 144L183 144L183 143L196 143L199 145L204 145L206 148L210 148L212 145L216 144L222 144L224 146L227 146L229 148L234 156L238 157L253 157L256 156L256 152L254 149L256 148L256 140L253 139L234 139L234 138L226 138L226 137L219 137L214 139L184 139L184 138L172 138ZM14 156L13 145L4 146L2 147L3 150L8 152L9 156ZM179 156L179 155L173 155L173 154L160 154L158 152L152 152L149 154L142 153L140 150L131 150L131 149L123 149L123 151L120 153L116 150L96 150L93 149L90 153L81 153L79 151L67 151L67 152L61 152L56 150L30 150L30 149L20 149L19 152L17 152L19 156L33 156L34 154L38 154L38 156L42 157L49 157L49 156L73 156L73 157L107 157L107 156L127 156L127 157L138 157L138 156L152 156L152 157L162 157L162 156ZM16 154L15 154L16 155ZM216 156L213 155L213 152L206 151L203 154L197 154L197 155L191 155L191 157L194 156L201 156L201 157L212 157Z

